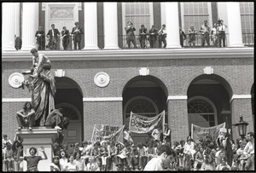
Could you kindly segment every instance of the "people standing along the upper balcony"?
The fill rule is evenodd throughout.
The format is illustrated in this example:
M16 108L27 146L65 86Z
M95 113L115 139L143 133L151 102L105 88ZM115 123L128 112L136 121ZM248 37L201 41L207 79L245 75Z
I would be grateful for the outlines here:
M198 38L196 35L200 34L201 36L201 46L205 46L207 42L207 46L213 47L225 47L226 39L225 39L225 29L226 25L224 25L223 20L218 20L218 22L213 24L212 29L208 26L207 20L204 20L204 24L199 28L199 32L195 29L194 25L191 25L188 29L188 33L185 34L182 31L182 28L179 28L179 36L180 36L180 45L184 46L184 41L188 40L189 48L195 47L195 42ZM160 30L153 25L149 30L141 25L139 28L138 37L135 35L136 28L133 26L131 21L127 22L127 27L125 26L125 39L128 49L137 48L137 38L139 40L140 48L147 48L149 43L150 48L166 48L166 25L163 24ZM38 27L38 31L35 34L38 50L46 49L59 49L58 42L60 42L59 37L61 36L62 47L64 50L68 49L68 45L70 43L70 36L73 36L73 49L81 49L81 40L82 34L84 34L83 29L79 26L79 22L75 22L75 27L73 27L72 32L67 30L66 26L62 27L62 31L59 32L58 29L55 28L55 24L51 25L51 29L45 35L42 26ZM47 38L47 45L46 39ZM212 43L210 43L210 41ZM148 43L147 43L148 42ZM15 38L15 47L16 49L21 49L22 40L20 37Z

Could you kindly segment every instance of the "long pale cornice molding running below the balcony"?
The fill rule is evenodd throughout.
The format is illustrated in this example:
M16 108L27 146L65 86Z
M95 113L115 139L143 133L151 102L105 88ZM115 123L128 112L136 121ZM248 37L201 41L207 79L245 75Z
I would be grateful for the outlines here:
M224 49L103 49L80 51L39 51L50 61L119 61L207 58L253 58L253 48ZM3 51L2 61L32 61L30 51Z

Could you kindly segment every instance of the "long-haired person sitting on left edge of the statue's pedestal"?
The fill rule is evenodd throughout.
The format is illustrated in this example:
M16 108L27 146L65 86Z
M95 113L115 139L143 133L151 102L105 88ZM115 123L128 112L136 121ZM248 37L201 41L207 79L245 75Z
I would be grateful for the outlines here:
M32 130L34 124L34 115L35 111L32 109L32 104L29 101L26 101L23 109L17 112L16 118L19 124L18 130L21 130L22 127L29 126L29 130Z

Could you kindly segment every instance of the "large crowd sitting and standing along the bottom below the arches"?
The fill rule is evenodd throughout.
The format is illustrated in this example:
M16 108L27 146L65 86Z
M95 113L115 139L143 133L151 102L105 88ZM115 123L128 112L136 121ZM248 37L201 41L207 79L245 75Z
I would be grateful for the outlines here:
M165 130L168 133L168 130ZM160 134L163 136L166 132ZM145 142L126 141L83 141L67 146L55 141L51 171L131 171L131 170L254 170L254 133L247 138L227 141L220 132L216 140L207 135L206 139L195 142L191 136L186 141L163 140L154 133ZM167 135L166 135L167 136ZM159 141L163 140L163 141ZM31 156L23 156L22 139L19 136L10 141L3 136L3 169L20 171L20 162L26 160L27 169L38 170L41 159L47 159L44 147L36 156L37 149L31 147ZM230 150L227 148L230 147ZM230 154L230 156L229 156ZM230 157L230 160L229 160Z

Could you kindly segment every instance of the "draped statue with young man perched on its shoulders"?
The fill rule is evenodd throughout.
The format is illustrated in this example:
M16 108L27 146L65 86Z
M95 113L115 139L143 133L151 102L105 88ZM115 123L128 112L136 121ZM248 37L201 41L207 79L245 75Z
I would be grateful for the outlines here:
M37 49L31 49L32 67L29 71L22 74L30 76L20 84L23 89L25 86L32 90L32 108L35 111L35 126L44 126L45 118L50 110L55 109L55 78L50 69L51 64L47 56L38 54Z

